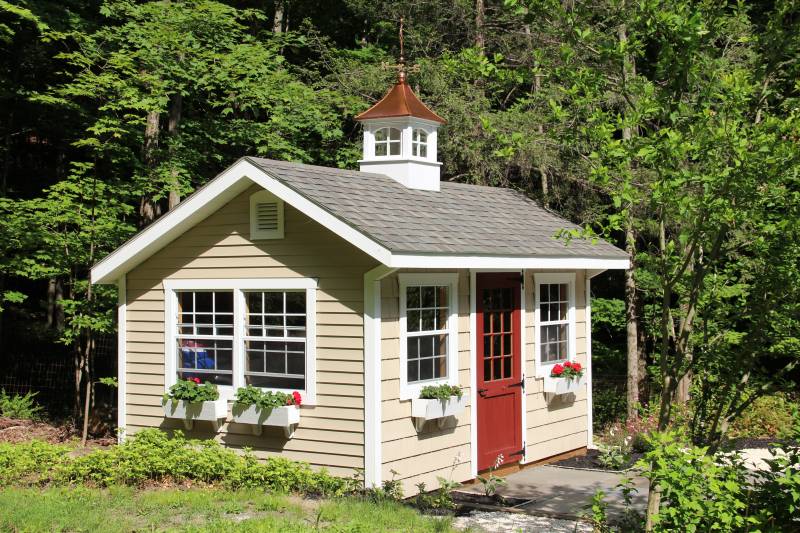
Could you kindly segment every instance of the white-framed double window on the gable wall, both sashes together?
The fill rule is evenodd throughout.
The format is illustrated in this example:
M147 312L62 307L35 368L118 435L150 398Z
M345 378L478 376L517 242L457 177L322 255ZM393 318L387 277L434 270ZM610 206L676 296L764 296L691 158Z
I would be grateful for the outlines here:
M315 401L316 280L164 280L168 389L197 377L223 398L254 385Z

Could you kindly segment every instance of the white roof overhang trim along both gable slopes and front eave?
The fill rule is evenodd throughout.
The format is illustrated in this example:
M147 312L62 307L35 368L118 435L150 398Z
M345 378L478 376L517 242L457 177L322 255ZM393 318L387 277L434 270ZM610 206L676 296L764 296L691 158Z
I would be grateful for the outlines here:
M345 220L333 215L280 180L250 162L239 159L222 174L198 189L175 209L134 235L97 263L92 283L116 283L122 276L158 250L213 214L237 195L256 184L268 190L312 220L391 268L540 268L609 270L628 268L628 259L592 257L516 257L435 255L391 252Z

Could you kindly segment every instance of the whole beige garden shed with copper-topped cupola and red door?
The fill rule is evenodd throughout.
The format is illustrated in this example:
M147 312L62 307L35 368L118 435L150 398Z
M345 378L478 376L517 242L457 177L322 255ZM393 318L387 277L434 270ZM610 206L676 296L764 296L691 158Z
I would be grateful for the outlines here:
M627 254L441 181L444 121L404 77L358 118L360 171L243 157L94 266L119 288L123 435L181 428L162 395L201 376L225 402L191 435L406 495L591 445L590 281ZM567 362L583 377L552 377ZM463 396L420 398L441 384ZM299 392L292 431L234 421L244 385Z

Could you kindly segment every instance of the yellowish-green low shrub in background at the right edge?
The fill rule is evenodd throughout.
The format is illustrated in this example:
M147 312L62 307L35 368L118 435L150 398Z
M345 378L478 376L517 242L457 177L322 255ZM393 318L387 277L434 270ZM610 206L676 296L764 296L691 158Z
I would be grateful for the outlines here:
M793 435L792 414L798 409L784 394L762 396L736 418L728 430L728 437L788 439Z

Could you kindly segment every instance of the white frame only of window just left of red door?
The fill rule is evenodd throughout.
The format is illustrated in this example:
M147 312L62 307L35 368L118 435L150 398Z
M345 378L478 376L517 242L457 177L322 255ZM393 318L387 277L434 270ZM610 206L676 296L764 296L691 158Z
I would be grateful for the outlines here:
M458 274L398 274L400 283L400 399L419 398L423 387L458 384ZM447 286L449 314L447 316L447 376L417 383L408 382L408 331L406 321L406 288L414 286Z

